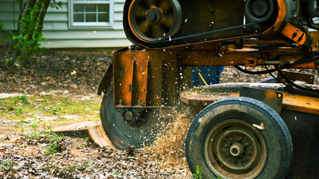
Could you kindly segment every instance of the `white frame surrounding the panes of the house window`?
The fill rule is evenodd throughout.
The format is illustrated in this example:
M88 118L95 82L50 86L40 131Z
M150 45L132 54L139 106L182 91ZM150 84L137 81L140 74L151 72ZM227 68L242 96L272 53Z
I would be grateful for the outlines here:
M73 4L109 4L109 22L73 22ZM97 1L89 1L89 0L69 0L69 28L105 28L113 26L113 0L97 0Z

